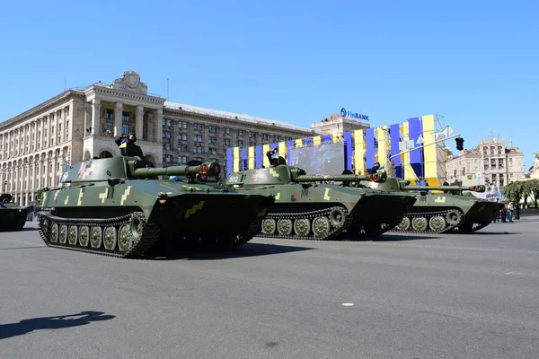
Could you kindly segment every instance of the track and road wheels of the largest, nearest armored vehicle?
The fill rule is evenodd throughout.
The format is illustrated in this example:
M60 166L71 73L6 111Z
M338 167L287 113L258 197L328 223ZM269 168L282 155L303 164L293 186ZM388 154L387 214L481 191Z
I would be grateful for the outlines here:
M116 233L117 241L115 243L115 249L114 250L106 250L103 247L103 237L104 237L104 229L110 226L120 228L122 225L130 225L130 220L134 216L142 217L144 218L144 214L142 212L136 212L134 214L130 215L122 215L119 217L113 217L113 218L106 218L106 219L82 219L82 218L64 218L64 217L57 217L54 215L41 215L40 216L40 236L41 239L45 242L45 244L48 247L51 248L59 248L63 250L76 250L81 251L85 253L92 253L92 254L99 254L102 256L108 256L108 257L116 257L116 258L140 258L146 250L148 250L155 241L159 240L159 227L155 224L146 224L146 221L144 221L142 225L142 231L141 236L138 241L133 241L132 245L128 250L120 251L118 250L118 230ZM45 221L49 221L49 224L45 224ZM58 240L57 242L53 242L49 240L49 234L51 231L51 227L53 224L58 225ZM67 232L66 232L66 242L61 243L60 242L60 225L66 224L67 226ZM75 225L77 227L77 243L76 244L70 244L69 243L69 228L71 225ZM80 245L80 227L82 226L88 226L89 229L93 227L100 227L102 230L102 241L99 248L93 248L91 246L91 240L88 240L88 243L86 246L81 247ZM88 233L90 235L90 233Z

